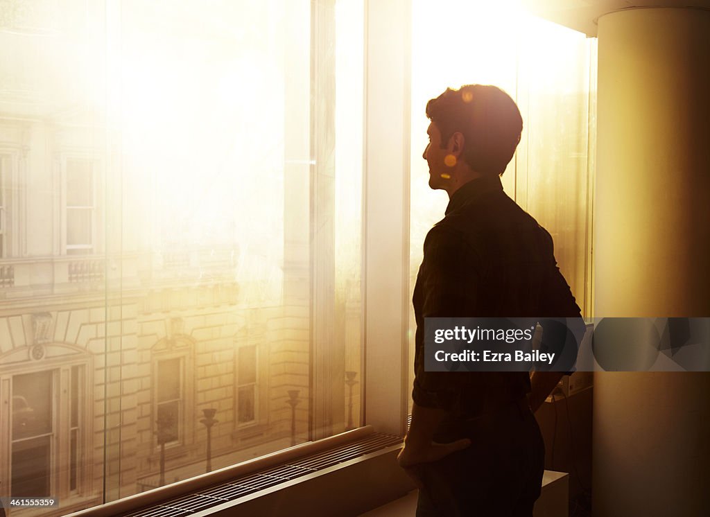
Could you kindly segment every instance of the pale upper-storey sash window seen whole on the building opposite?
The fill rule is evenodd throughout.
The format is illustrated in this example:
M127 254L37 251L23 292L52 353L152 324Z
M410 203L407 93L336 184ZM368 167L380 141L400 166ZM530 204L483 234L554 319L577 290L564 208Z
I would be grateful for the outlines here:
M67 255L94 252L96 232L96 178L94 162L70 158L66 162Z

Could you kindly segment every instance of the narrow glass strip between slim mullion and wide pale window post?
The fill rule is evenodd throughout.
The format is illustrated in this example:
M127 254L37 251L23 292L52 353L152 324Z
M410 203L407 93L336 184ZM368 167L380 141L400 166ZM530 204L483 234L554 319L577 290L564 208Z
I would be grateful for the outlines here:
M342 430L361 426L361 224L362 138L365 67L364 5L359 0L335 2L335 218L334 218L334 340L329 345L343 350ZM334 418L339 421L340 418Z

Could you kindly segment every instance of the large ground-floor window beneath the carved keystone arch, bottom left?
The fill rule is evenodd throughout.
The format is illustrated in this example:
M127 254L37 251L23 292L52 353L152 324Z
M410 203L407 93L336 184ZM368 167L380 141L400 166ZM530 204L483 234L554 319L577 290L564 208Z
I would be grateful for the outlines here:
M57 496L67 489L80 492L84 469L83 377L82 365L11 377L12 497ZM60 399L60 394L68 396ZM69 415L67 420L62 416L64 411ZM61 460L65 455L69 457L68 487L59 475L66 472Z

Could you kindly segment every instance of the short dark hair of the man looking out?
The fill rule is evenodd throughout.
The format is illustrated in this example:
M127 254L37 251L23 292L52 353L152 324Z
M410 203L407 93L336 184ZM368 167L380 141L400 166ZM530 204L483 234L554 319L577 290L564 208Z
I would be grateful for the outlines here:
M488 84L447 88L427 102L427 117L439 128L442 148L454 133L464 135L464 161L483 174L503 174L523 131L515 101Z

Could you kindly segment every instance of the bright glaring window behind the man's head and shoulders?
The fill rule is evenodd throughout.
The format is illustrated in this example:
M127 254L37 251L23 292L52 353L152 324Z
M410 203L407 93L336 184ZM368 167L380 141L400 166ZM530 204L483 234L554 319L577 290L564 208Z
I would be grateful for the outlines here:
M520 144L501 177L503 188L550 231L559 268L583 315L591 316L596 40L510 4L413 1L410 289L425 235L443 218L449 201L444 191L428 187L422 160L426 103L447 87L495 84L513 97L523 116ZM459 16L452 18L451 12ZM444 43L433 45L434 40L469 49L466 59L442 52ZM414 330L410 311L410 359Z

